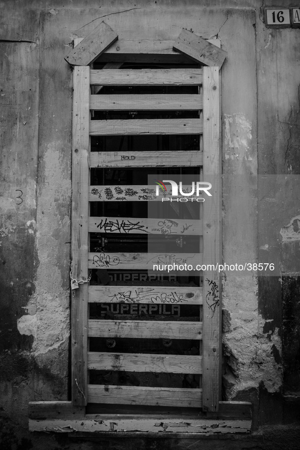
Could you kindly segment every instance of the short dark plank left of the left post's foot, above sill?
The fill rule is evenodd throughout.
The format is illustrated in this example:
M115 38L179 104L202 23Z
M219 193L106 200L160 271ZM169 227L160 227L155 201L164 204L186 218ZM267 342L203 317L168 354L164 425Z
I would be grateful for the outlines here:
M29 402L28 417L34 420L78 419L85 415L84 406L74 406L71 401Z

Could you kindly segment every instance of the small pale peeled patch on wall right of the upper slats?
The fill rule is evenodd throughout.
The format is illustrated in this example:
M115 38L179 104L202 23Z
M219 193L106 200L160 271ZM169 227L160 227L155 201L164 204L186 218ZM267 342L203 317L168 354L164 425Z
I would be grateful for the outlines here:
M246 159L252 161L249 154L252 140L252 124L243 113L224 114L225 159Z

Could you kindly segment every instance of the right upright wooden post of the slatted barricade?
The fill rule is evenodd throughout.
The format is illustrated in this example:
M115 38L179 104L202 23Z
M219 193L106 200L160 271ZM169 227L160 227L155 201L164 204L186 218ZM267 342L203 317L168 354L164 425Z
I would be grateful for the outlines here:
M203 172L212 184L204 202L204 264L220 262L219 68L203 68ZM220 277L207 270L203 280L203 410L218 411L220 360Z

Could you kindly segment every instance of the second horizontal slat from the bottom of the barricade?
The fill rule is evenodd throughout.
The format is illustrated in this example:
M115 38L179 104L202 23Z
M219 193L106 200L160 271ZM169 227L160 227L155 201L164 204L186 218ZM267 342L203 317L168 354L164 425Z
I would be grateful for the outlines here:
M201 356L89 352L88 369L128 372L202 373Z

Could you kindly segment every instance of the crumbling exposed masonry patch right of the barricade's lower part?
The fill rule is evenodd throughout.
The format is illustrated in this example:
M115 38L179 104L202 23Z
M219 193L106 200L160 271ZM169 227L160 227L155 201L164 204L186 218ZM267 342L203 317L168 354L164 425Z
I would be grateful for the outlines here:
M281 338L278 328L263 333L267 321L258 314L256 283L251 276L230 276L223 282L223 307L231 319L230 330L223 333L228 400L261 382L271 393L282 385Z

